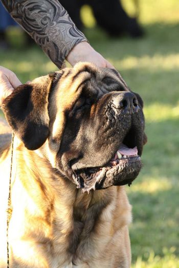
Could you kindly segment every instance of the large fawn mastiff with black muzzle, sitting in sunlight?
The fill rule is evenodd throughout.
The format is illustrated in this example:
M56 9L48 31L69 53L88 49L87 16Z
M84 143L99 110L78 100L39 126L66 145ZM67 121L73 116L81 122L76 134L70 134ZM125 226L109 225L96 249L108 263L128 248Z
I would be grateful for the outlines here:
M123 185L142 166L141 97L116 70L78 63L20 85L2 108L14 140L0 149L0 267L129 268Z

